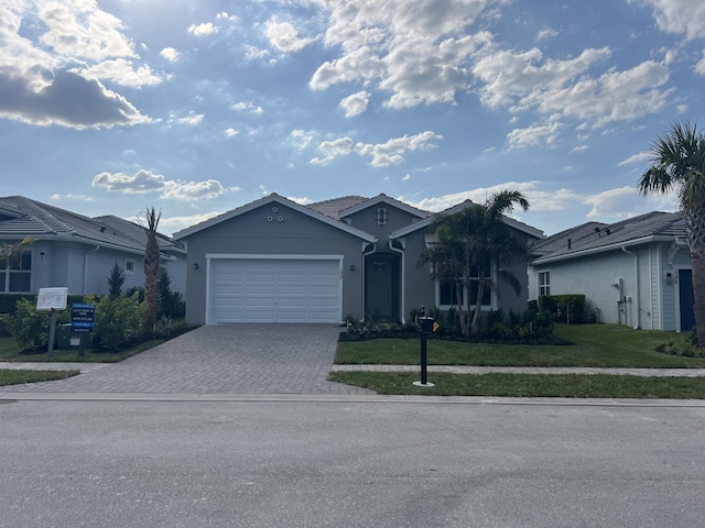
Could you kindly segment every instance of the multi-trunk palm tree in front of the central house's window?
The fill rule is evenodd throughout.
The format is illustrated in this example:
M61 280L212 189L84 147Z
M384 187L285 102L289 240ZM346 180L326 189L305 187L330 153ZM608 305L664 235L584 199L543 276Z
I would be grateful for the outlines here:
M509 284L519 295L521 283L505 266L527 256L527 244L519 240L503 216L529 201L518 190L502 190L484 205L471 204L463 210L441 216L432 224L437 243L426 250L420 262L432 262L436 278L448 280L456 290L460 332L468 334L463 299L468 310L474 305L469 333L477 333L482 297L486 290L497 292L498 280Z

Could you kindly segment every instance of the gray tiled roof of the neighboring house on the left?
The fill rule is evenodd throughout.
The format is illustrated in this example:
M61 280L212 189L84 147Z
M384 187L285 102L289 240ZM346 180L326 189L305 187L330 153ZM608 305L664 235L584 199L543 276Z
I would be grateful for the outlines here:
M130 253L144 253L147 235L142 228L117 217L90 218L66 209L42 204L23 196L0 197L0 239L72 240L84 244L113 248ZM169 237L160 234L162 251L182 251Z

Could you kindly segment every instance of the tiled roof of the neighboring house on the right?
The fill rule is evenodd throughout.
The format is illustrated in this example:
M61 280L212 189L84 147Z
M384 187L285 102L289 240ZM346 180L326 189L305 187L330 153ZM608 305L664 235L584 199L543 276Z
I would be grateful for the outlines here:
M681 212L652 211L616 223L588 222L561 231L535 244L533 253L541 256L532 264L573 258L653 241L673 241L684 244L685 240L685 220Z

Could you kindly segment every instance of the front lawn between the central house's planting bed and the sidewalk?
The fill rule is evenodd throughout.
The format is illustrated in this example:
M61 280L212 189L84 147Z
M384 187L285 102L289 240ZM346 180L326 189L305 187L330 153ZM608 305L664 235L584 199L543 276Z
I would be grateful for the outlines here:
M639 369L705 367L704 358L663 354L657 346L673 332L632 330L616 324L555 328L555 336L572 345L486 344L430 339L430 365L474 366L587 366ZM420 362L419 339L378 339L338 343L336 363L398 364Z

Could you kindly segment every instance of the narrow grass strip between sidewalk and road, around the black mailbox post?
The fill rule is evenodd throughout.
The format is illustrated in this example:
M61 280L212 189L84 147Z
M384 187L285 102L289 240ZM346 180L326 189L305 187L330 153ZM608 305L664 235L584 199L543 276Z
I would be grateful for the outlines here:
M382 395L503 396L562 398L704 399L705 378L639 377L606 374L446 374L429 373L435 386L413 385L419 373L332 372L329 380Z

